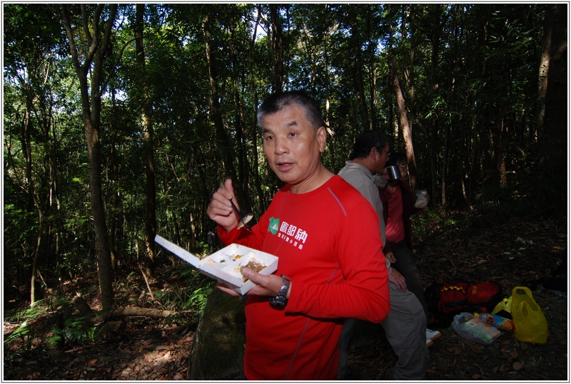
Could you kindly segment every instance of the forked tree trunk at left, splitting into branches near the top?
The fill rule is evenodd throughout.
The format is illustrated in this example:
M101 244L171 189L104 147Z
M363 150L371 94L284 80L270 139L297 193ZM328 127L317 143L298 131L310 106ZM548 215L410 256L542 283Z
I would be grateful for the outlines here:
M71 28L71 20L69 19L67 6L66 4L61 5L69 42L69 50L79 78L81 91L81 107L83 110L87 150L89 153L89 201L91 203L91 214L93 214L94 218L101 303L103 305L103 311L111 311L114 306L111 251L109 249L105 209L101 191L101 142L99 141L99 126L101 119L101 75L106 55L108 51L111 51L109 41L111 40L111 31L115 21L117 4L111 4L110 6L109 17L102 37L99 19L103 8L104 6L102 4L97 6L93 22L90 25L87 7L85 4L81 4L83 31L88 31L87 35L83 35L86 41L82 41L82 43L84 43L85 46L89 46L89 51L81 55L81 57L85 59L84 63L81 64L79 62L80 53L78 48L76 48L76 37ZM91 31L93 35L90 35L89 31ZM91 65L92 63L94 63L93 66ZM87 81L88 73L91 73L91 84ZM89 85L91 85L91 88ZM89 90L91 90L91 95L89 94Z

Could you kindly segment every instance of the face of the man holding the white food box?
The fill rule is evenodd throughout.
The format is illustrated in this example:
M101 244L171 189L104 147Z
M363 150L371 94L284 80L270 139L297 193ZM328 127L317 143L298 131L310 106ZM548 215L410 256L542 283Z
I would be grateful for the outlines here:
M310 187L321 166L325 128L313 131L303 107L293 105L261 120L263 152L283 182Z

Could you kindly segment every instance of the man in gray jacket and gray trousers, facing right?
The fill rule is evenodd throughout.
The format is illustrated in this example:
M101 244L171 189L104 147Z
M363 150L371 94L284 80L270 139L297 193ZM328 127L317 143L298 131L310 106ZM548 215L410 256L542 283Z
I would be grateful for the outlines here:
M383 172L389 152L388 137L375 130L361 133L353 146L353 159L345 162L338 172L350 185L353 185L373 205L379 217L379 230L386 244L383 203L378 188L373 182L375 173ZM426 316L423 306L416 296L407 290L403 275L390 268L395 259L385 254L389 273L390 312L381 323L387 340L398 356L395 366L395 380L425 380L430 353L426 346ZM347 365L350 344L355 338L360 321L345 319L339 338L338 380L355 379Z

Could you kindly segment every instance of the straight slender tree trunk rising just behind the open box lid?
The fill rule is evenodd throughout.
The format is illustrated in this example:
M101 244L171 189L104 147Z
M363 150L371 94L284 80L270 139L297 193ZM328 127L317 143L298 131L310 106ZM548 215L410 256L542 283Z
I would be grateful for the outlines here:
M145 274L153 276L155 271L155 234L156 234L156 190L155 190L155 160L153 158L153 124L151 122L151 100L148 95L148 81L145 66L145 50L143 46L143 14L145 4L136 5L135 47L137 66L142 74L141 104L143 105L141 123L143 141L145 142Z

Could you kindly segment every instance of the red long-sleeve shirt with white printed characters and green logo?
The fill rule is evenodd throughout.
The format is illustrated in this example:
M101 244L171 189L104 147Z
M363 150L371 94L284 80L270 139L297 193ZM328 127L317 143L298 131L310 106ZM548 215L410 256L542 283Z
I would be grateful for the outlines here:
M278 256L288 305L246 301L244 373L250 380L335 380L343 318L380 323L390 310L378 217L339 176L317 190L285 185L252 231L218 227L233 242Z

